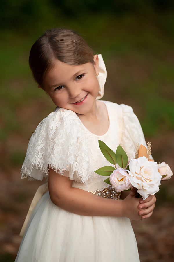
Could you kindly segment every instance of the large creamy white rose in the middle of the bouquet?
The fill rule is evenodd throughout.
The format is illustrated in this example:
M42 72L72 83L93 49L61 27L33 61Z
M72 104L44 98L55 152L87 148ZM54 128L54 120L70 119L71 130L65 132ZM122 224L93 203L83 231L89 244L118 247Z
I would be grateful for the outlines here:
M158 192L162 176L158 172L157 162L148 161L146 157L131 159L129 162L128 177L132 186L145 200L149 195Z

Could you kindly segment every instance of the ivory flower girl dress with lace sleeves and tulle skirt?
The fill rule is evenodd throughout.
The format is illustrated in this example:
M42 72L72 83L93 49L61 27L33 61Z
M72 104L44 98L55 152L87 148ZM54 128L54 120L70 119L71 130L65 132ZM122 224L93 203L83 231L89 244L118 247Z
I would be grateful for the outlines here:
M99 103L105 103L110 122L102 136L89 132L74 112L62 108L41 121L28 144L22 177L42 180L53 168L60 174L68 170L73 187L86 191L106 187L104 178L94 172L108 165L98 140L113 151L120 144L129 159L135 157L137 142L146 143L131 107ZM15 261L137 262L139 256L128 218L70 213L53 204L47 191L30 216Z

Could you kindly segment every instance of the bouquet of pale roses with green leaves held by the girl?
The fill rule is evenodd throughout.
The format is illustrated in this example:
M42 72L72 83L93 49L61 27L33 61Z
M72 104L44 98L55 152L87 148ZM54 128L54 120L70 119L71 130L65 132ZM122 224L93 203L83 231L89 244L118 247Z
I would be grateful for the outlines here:
M132 186L135 196L145 200L149 195L154 195L159 189L161 180L168 180L173 175L170 167L165 162L157 164L151 159L151 143L147 148L137 144L135 159L128 161L128 156L119 145L113 152L103 141L99 140L99 147L104 157L113 166L104 166L95 171L103 176L109 176L104 182L112 185L117 192L129 190ZM118 168L116 167L118 164Z

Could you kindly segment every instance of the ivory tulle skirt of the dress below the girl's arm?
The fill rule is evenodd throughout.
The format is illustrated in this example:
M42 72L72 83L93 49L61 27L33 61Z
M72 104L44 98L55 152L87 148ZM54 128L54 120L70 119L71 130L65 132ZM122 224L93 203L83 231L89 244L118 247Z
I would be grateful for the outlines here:
M128 218L80 216L54 205L46 192L37 203L15 262L138 262Z

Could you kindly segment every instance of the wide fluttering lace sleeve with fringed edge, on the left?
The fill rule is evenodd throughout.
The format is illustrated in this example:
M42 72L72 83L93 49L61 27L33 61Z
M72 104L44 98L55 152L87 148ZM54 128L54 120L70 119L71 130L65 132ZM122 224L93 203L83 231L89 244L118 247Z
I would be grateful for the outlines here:
M88 147L81 122L71 110L59 109L37 126L27 148L21 177L42 180L52 168L69 178L86 182L92 174Z

